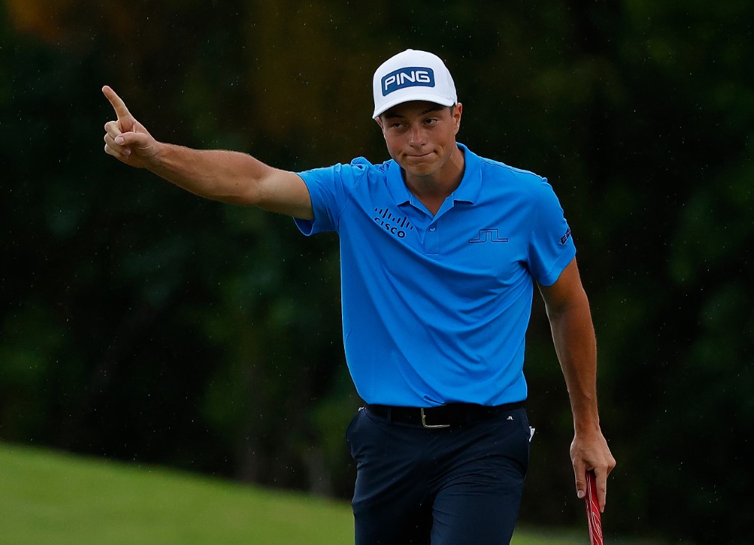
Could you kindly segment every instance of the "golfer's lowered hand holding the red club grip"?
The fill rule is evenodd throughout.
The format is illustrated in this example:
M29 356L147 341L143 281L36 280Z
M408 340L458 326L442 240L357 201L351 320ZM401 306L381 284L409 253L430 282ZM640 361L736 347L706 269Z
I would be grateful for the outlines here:
M608 475L615 467L615 458L610 452L602 432L577 433L571 443L571 462L576 476L576 493L583 498L587 494L585 474L594 470L597 481L597 500L600 512L605 511Z

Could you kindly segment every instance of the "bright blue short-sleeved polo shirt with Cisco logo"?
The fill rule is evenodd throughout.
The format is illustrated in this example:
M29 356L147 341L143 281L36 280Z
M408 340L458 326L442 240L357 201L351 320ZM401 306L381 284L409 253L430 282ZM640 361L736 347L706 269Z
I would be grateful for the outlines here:
M458 147L463 179L434 216L393 160L299 173L314 220L297 226L339 234L345 357L367 403L526 399L533 281L571 262L571 231L547 180Z

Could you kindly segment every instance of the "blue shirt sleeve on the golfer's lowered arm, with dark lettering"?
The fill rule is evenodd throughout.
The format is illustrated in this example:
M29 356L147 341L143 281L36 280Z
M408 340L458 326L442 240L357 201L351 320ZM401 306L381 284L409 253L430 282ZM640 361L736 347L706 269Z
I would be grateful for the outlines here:
M541 285L553 285L576 255L571 228L552 186L542 178L535 191L535 212L529 239L529 270Z

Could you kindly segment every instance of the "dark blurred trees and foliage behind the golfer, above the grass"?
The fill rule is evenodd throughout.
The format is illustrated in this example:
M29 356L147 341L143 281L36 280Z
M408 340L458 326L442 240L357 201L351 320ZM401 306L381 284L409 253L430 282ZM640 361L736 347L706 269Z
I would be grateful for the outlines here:
M349 497L360 402L334 236L103 152L111 85L159 140L290 170L388 159L372 72L446 61L458 139L572 226L628 536L751 543L754 3L0 2L0 440ZM576 525L538 296L521 521Z

